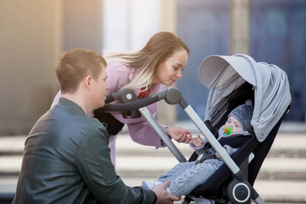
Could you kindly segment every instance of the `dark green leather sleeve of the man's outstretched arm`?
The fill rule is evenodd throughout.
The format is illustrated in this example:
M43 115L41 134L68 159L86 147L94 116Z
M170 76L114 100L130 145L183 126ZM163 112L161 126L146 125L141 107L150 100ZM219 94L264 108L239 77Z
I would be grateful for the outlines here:
M104 126L94 126L81 141L77 168L90 192L101 203L154 203L154 192L127 187L117 176Z

